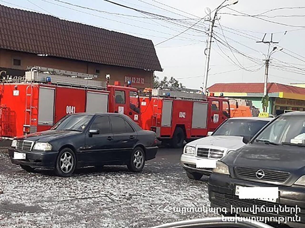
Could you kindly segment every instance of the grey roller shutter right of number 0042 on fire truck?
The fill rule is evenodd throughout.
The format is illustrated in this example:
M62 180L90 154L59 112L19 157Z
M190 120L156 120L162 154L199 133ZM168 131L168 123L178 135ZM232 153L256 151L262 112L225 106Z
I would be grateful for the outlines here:
M207 103L194 102L192 128L206 128L207 113L208 113Z

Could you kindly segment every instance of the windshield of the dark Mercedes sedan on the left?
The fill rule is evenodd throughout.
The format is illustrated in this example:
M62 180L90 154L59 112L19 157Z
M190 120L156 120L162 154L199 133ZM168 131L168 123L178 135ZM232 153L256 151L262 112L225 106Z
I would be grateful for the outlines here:
M51 130L66 130L82 132L91 119L91 115L76 114L65 116L54 125Z

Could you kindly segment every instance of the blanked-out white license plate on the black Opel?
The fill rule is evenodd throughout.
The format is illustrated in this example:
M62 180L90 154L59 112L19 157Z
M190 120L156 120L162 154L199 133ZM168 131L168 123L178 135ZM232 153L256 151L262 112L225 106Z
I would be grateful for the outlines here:
M235 195L240 199L258 199L275 203L278 199L278 187L244 187L236 185Z

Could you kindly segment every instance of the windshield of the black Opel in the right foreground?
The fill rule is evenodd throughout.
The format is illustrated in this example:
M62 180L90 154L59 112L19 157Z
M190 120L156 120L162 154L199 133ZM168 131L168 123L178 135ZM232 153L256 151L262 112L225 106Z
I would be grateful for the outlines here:
M271 143L304 144L305 119L303 116L281 116L274 120L256 138L256 141Z

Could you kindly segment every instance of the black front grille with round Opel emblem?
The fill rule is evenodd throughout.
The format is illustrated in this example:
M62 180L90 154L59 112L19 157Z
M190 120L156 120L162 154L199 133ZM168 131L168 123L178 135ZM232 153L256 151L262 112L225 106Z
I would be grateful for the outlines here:
M235 167L235 173L238 177L252 179L253 181L261 180L261 181L272 181L272 182L283 183L290 176L290 173L288 172L262 169L265 175L262 178L258 178L256 176L256 172L258 170L260 169L248 168L248 167Z

